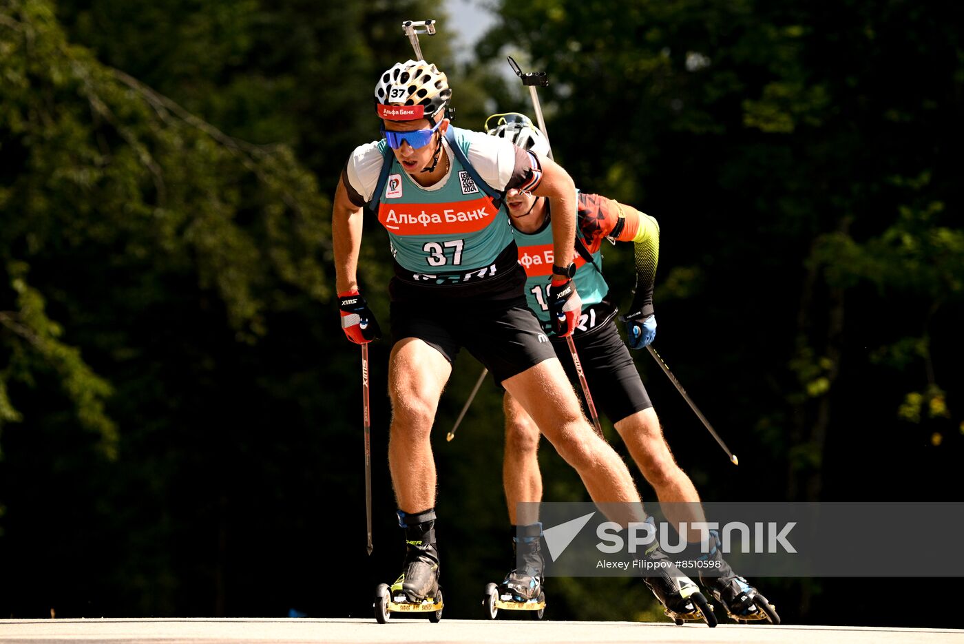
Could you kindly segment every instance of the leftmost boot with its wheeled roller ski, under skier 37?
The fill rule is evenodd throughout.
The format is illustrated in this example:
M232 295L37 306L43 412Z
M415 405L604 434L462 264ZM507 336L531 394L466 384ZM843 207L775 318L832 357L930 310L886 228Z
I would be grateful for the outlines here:
M405 528L405 569L390 587L382 583L375 590L375 619L385 624L393 612L427 612L430 622L438 622L442 619L442 587L435 510L415 515L399 510L398 524Z

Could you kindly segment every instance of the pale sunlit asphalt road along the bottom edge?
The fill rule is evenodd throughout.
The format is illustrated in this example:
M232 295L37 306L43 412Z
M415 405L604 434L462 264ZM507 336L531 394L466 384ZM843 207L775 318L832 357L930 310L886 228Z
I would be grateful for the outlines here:
M964 644L964 631L817 626L705 626L632 622L373 619L89 619L0 620L0 642L745 642L747 644Z

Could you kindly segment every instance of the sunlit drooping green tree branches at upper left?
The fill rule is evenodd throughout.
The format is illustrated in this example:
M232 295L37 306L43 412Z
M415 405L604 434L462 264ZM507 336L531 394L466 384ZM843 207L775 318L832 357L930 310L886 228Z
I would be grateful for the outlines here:
M90 271L105 286L147 268L195 275L238 337L254 339L266 308L290 306L278 286L328 296L317 256L328 201L287 148L232 139L68 45L46 3L13 3L5 17L0 127L12 164L0 199L16 295L3 318L12 375L29 380L24 354L35 353L64 378L82 422L115 441L102 411L109 389L57 340L63 329L30 286L31 266L51 286L56 272ZM107 266L85 265L98 253L109 256Z

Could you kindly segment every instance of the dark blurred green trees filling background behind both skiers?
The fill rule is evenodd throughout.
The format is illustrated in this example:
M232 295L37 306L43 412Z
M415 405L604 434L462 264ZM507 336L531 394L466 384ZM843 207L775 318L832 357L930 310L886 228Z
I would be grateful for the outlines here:
M469 52L428 2L0 0L0 617L371 616L403 550L390 347L371 345L369 557L331 195L378 136L375 79L412 57L405 18L439 21L422 48L456 124L531 114L507 54L545 70L556 160L659 221L656 347L738 468L637 362L706 500L960 500L961 6L491 9ZM368 224L362 285L387 324ZM630 252L605 254L624 306ZM434 437L448 617L481 617L512 559L491 382L444 442L479 371L460 358ZM546 500L588 499L541 459ZM905 558L917 529L868 535ZM785 623L956 626L918 579L752 581ZM660 618L638 580L548 594L551 619Z

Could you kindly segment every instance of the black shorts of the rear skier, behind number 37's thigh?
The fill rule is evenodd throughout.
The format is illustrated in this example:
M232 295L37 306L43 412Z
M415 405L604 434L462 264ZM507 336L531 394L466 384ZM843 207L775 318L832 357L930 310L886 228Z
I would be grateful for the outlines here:
M589 393L600 416L606 416L616 423L636 412L653 407L614 320L609 320L589 334L576 334L573 340L582 370L586 374ZM589 407L582 395L582 386L579 385L569 343L564 337L553 336L551 341L559 362L562 362L566 375L579 394L586 416L589 416Z

